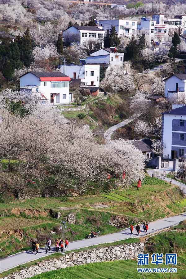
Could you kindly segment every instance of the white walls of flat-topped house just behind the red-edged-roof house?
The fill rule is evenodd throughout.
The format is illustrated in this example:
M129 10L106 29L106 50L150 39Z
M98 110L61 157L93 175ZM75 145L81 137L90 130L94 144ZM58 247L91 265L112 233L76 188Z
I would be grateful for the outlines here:
M64 68L61 66L61 73L64 74ZM71 79L81 79L82 85L100 86L100 65L77 65L69 64L65 66L65 74Z

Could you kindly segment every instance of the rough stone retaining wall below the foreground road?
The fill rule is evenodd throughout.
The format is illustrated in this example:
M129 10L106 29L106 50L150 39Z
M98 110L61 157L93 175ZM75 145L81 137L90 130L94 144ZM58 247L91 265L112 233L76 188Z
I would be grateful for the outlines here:
M61 256L60 259L50 259L38 262L36 266L25 268L20 272L8 275L4 279L31 278L47 271L72 267L79 264L98 263L104 261L134 259L139 253L144 252L144 243L133 243L104 248L95 248L82 252L71 252Z

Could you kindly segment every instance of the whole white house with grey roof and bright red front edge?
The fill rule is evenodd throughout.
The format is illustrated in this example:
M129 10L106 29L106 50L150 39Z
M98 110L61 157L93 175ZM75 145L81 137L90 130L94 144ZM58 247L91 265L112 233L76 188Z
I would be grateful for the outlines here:
M69 94L69 76L58 72L27 72L20 76L20 91L39 96L42 103L72 102Z

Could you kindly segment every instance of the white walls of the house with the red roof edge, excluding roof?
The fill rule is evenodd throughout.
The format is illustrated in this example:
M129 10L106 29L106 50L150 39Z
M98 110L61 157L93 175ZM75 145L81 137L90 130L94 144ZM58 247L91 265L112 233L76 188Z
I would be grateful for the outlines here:
M65 83L65 87L54 88L54 82L40 81L37 76L28 73L20 77L20 90L26 91L29 94L35 94L39 97L44 95L49 102L52 100L51 97L54 97L54 104L69 103L69 101L72 101L72 96L69 96L69 81L60 81L60 83ZM34 87L27 89L29 85L34 85Z

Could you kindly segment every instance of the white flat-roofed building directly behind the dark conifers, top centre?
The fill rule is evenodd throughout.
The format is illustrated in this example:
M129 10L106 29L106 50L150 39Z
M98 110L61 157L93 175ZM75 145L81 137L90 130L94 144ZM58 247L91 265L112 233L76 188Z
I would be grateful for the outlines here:
M122 20L122 19L99 20L99 27L102 27L105 30L105 35L109 34L112 25L116 27L116 32L118 34L118 37L121 36L131 37L132 34L136 35L136 30L137 30L136 20Z

